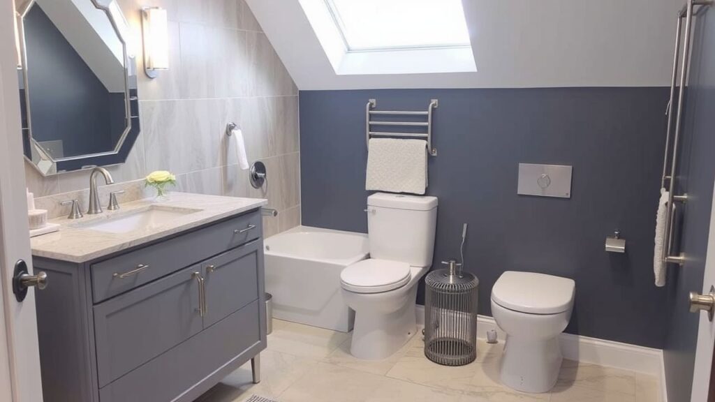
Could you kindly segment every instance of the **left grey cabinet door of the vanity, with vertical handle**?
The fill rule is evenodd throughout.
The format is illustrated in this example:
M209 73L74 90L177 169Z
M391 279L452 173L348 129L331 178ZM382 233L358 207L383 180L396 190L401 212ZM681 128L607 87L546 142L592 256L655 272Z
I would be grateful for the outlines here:
M100 388L202 330L200 270L193 265L94 306Z

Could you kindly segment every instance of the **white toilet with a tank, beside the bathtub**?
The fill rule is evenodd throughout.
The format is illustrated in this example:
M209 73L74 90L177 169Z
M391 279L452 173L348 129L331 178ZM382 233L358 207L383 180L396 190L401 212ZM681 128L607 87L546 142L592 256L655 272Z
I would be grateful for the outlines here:
M355 310L352 356L388 358L415 334L417 283L432 265L436 223L436 197L368 197L370 258L340 273L342 296Z

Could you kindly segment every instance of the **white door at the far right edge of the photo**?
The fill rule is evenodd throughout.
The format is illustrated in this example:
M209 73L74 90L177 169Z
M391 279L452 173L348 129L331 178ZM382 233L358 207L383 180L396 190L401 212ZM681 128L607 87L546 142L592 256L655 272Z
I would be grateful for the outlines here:
M715 286L715 197L713 197L713 210L710 213L710 234L706 255L702 295L709 295L711 287ZM713 292L715 293L715 291ZM715 399L715 395L710 396L711 399L708 398L714 345L715 320L711 321L707 312L700 313L691 402L704 402ZM715 390L713 391L715 392Z

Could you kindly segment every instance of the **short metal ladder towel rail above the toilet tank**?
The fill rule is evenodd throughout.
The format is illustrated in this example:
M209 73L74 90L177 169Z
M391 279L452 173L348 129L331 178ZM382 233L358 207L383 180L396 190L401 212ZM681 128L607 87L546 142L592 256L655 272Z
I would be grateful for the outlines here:
M432 147L432 111L437 108L437 99L431 99L430 105L426 112L418 111L389 111L389 110L373 110L377 106L375 99L368 99L368 104L365 106L365 134L367 136L368 147L370 146L370 137L416 137L427 139L427 150L433 157L437 156L437 149ZM376 115L382 116L425 116L426 122L393 122L385 120L373 120L371 117ZM426 127L427 132L383 132L373 131L374 126L397 126L397 127Z

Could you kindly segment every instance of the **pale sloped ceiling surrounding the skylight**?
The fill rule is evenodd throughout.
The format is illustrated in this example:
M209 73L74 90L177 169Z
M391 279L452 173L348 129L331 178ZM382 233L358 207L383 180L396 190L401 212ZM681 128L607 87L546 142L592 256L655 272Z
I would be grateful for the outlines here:
M302 90L669 86L680 3L463 0L477 72L337 75L298 0L247 0Z

